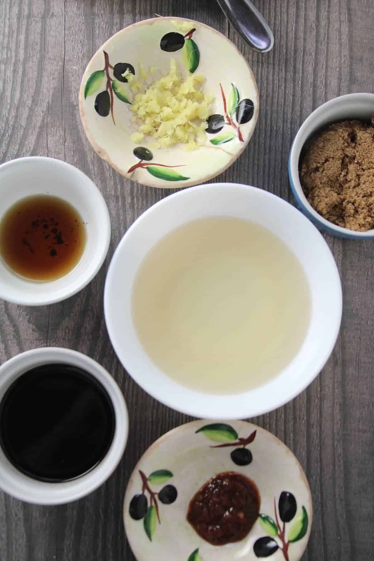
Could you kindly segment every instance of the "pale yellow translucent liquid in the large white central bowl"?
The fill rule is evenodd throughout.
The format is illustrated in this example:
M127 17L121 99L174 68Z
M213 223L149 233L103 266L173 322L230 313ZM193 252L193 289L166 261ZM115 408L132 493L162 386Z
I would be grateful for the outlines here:
M278 375L310 321L298 259L266 228L213 217L178 227L138 270L133 320L151 360L209 393L237 393Z

